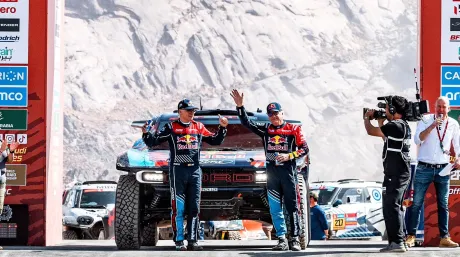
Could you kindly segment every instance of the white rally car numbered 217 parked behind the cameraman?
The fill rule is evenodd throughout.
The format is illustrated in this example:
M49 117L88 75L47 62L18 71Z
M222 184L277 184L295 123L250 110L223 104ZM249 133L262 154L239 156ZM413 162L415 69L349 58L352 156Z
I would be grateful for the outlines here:
M387 239L382 212L382 183L359 179L310 184L326 213L330 239Z

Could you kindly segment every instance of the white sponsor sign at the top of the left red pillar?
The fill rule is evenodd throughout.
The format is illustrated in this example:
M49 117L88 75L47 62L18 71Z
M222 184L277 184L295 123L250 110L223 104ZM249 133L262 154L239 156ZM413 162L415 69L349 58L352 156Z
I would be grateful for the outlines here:
M0 0L0 64L29 62L29 0Z

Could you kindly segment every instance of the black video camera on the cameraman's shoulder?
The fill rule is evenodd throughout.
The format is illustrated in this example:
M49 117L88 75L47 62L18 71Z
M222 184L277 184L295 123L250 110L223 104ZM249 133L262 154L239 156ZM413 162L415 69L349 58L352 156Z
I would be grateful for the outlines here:
M392 95L389 96L379 96L377 97L377 100L379 101L385 101L385 102L379 102L377 104L378 108L386 108L387 104L391 106L392 103ZM369 110L369 108L363 108L363 118L365 113ZM417 101L417 102L411 102L411 101L406 101L406 108L404 109L404 112L402 114L402 119L405 121L419 121L422 119L422 115L425 113L430 112L430 107L428 104L428 100L422 100L422 101ZM372 117L369 117L370 119L386 119L386 113L385 110L375 110L374 115Z

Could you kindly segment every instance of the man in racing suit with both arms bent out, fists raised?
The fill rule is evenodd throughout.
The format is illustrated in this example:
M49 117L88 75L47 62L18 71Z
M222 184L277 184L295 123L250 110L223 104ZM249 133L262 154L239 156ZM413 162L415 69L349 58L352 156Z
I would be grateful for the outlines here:
M202 141L210 145L220 145L227 134L228 120L219 115L219 130L211 133L203 123L193 120L198 108L190 100L178 104L179 119L171 121L155 134L144 125L142 139L148 147L169 142L171 189L171 226L174 232L176 250L201 251L197 237L200 227L199 210L202 172L199 166ZM184 245L184 207L187 205L187 248Z

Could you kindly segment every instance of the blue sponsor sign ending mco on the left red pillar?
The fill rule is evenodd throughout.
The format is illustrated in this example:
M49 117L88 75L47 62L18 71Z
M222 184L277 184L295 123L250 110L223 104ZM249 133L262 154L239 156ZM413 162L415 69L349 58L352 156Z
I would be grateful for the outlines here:
M0 107L27 107L28 68L0 66Z

